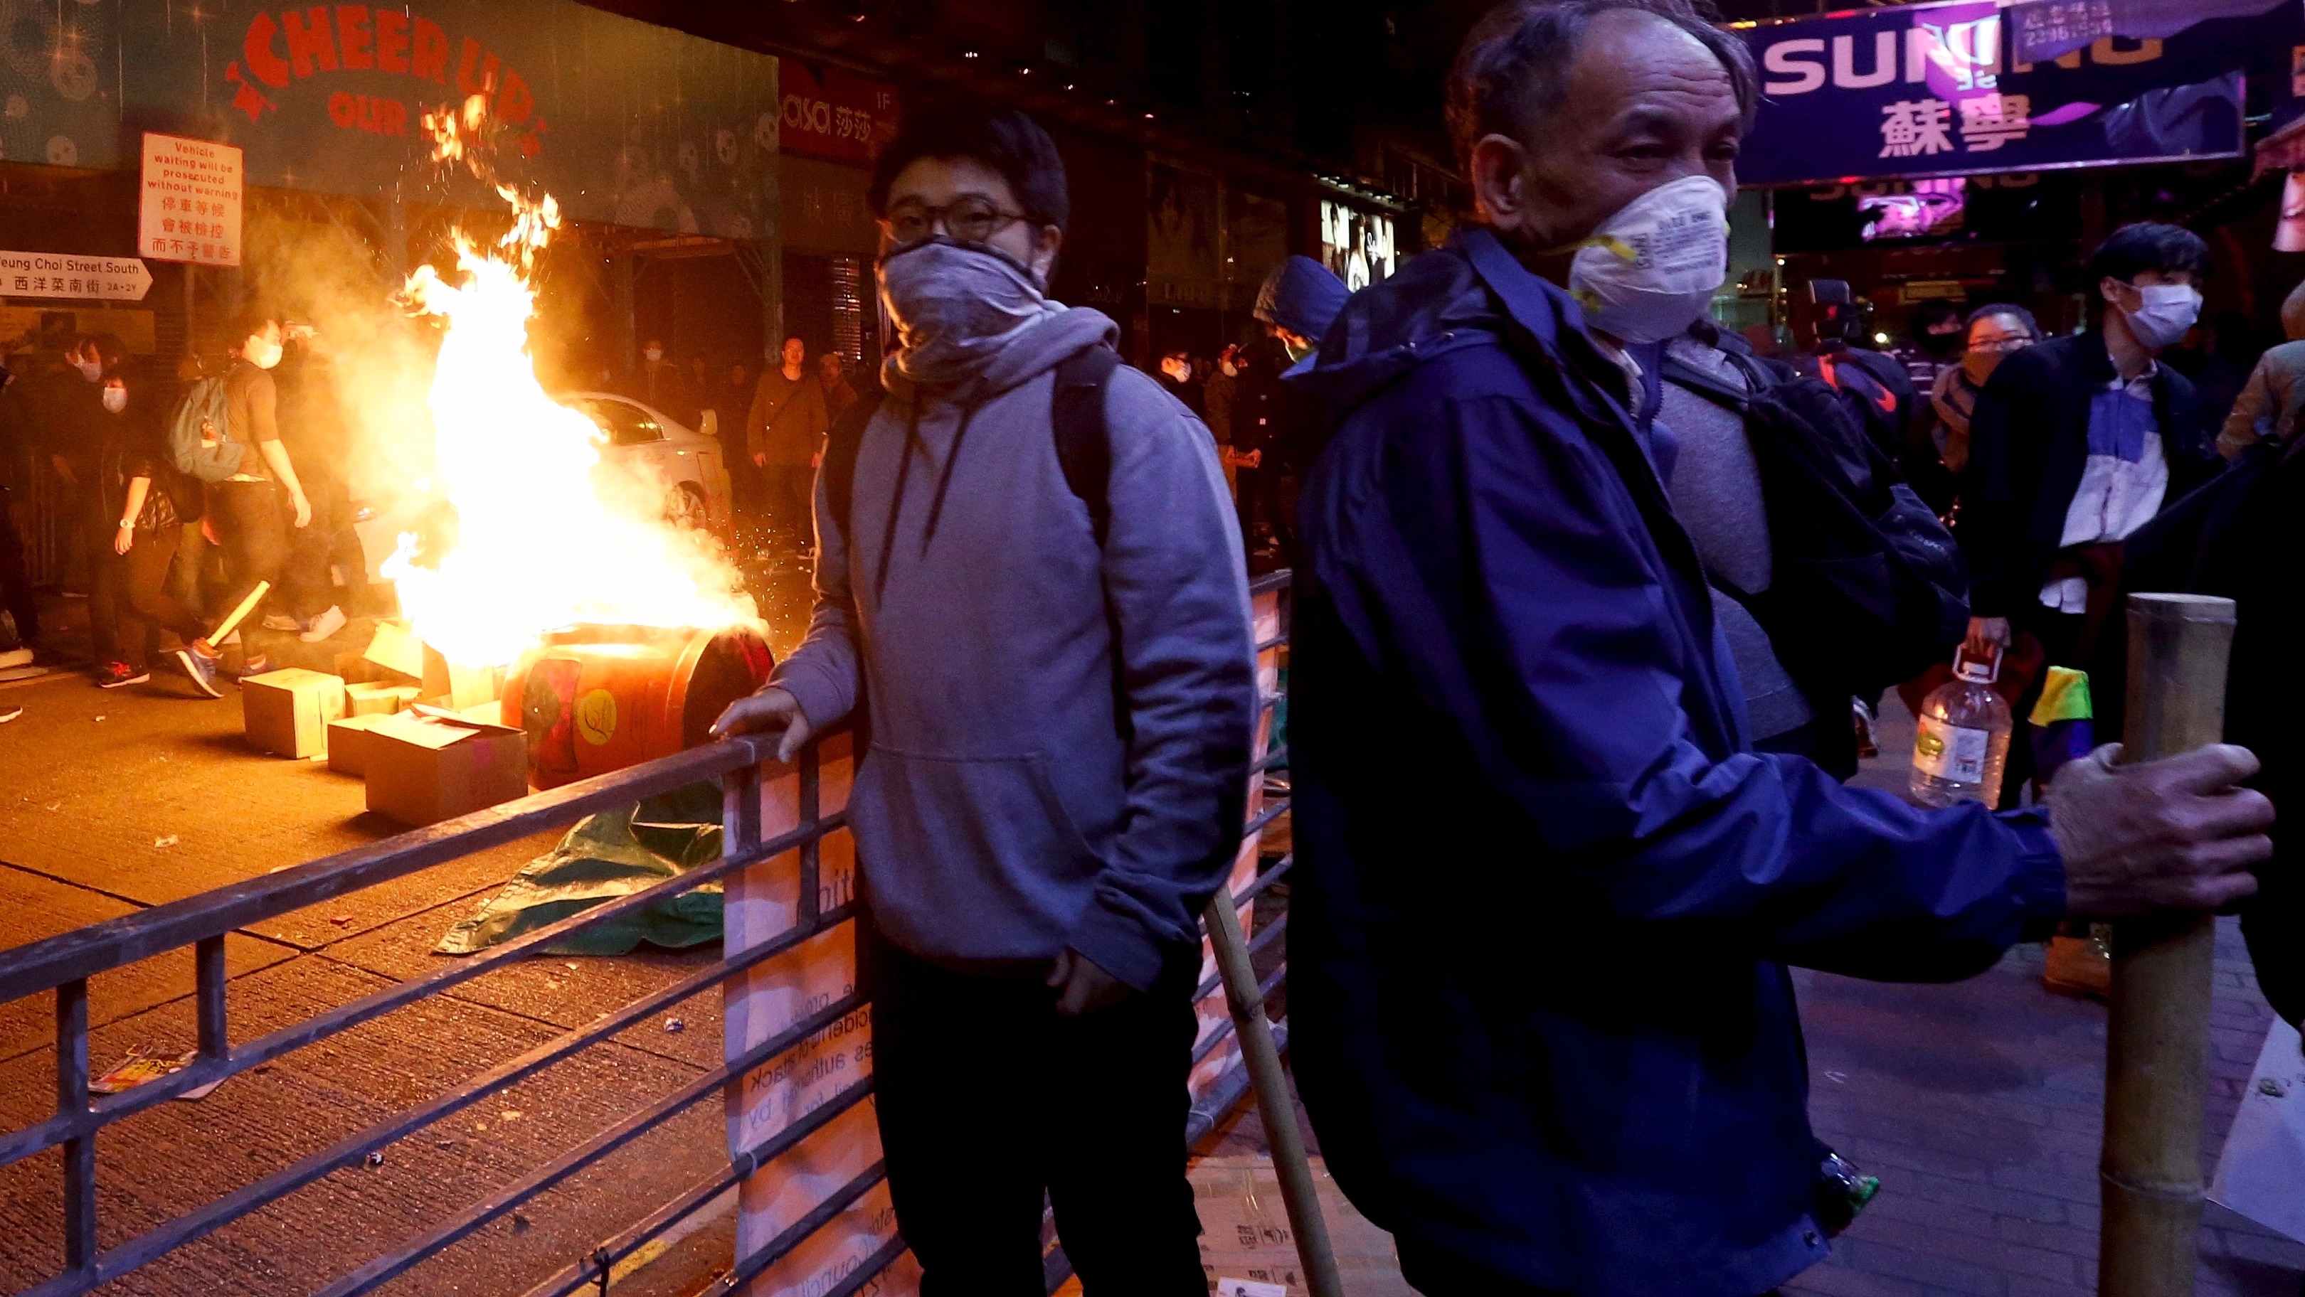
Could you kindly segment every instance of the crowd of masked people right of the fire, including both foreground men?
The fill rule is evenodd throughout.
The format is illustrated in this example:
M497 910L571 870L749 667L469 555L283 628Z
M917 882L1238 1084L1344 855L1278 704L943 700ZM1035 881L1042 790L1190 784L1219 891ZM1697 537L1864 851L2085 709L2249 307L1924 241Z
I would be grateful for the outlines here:
M1295 1078L1420 1292L1768 1292L1865 1198L1784 965L1941 981L2270 878L2240 746L2095 749L2005 809L1842 783L1856 703L1964 645L2086 659L2107 555L2229 479L2160 359L2206 256L2118 230L2070 339L1980 302L1899 359L1842 309L1761 355L1703 318L1756 92L1687 0L1501 5L1450 76L1478 223L1351 297L1291 263L1265 339L1157 376L1046 297L1072 205L1028 115L938 106L881 152L897 346L814 475L809 636L717 730L869 735L857 963L924 1288L1037 1290L1046 1200L1090 1297L1206 1292L1196 915L1268 530ZM2293 366L2234 385L2266 445ZM1443 882L1480 905L1436 942Z

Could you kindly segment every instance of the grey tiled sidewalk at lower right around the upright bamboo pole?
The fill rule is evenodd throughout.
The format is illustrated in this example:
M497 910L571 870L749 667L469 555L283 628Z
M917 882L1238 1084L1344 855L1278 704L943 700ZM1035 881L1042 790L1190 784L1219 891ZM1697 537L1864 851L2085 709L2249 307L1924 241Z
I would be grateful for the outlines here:
M2104 1007L2049 995L2040 968L2040 947L2017 947L1955 986L1793 974L1816 1133L1879 1175L1881 1196L1789 1295L2095 1292ZM2224 919L2208 1166L2270 1018ZM2298 1297L2300 1272L2305 1246L2208 1205L2204 1297Z

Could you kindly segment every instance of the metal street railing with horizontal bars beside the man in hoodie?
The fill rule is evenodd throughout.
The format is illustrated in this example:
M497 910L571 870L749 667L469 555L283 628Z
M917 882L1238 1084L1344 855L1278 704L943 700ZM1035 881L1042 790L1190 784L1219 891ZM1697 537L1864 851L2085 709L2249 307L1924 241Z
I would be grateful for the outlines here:
M1235 908L1245 908L1265 894L1288 869L1288 857L1284 857L1272 869L1259 873L1259 852L1254 845L1261 832L1286 809L1286 802L1261 802L1265 772L1286 760L1284 751L1268 753L1263 742L1277 696L1272 687L1277 650L1286 643L1286 613L1282 604L1286 587L1288 574L1275 574L1254 585L1261 624L1259 677L1265 689L1268 712L1265 723L1259 726L1259 763L1245 850L1233 871L1231 896ZM366 848L0 951L0 1002L51 993L55 998L55 1113L0 1136L0 1166L46 1150L62 1152L65 1265L60 1272L25 1288L25 1292L32 1297L65 1297L104 1285L175 1249L214 1235L233 1221L297 1193L334 1170L362 1166L387 1145L491 1094L500 1094L585 1048L604 1044L618 1032L648 1023L664 1009L715 986L721 986L728 995L726 1062L719 1069L696 1076L671 1094L655 1099L645 1110L558 1152L558 1156L528 1170L514 1184L479 1196L422 1235L401 1239L383 1256L369 1258L353 1272L327 1283L320 1292L325 1297L371 1292L715 1097L726 1097L731 1106L728 1166L675 1200L632 1221L588 1256L574 1258L560 1274L532 1288L530 1297L565 1297L588 1285L606 1290L618 1265L731 1189L740 1193L740 1258L719 1281L719 1292L742 1292L747 1283L779 1262L816 1265L830 1253L839 1253L827 1262L830 1269L809 1272L837 1276L837 1281L816 1288L818 1292L846 1297L871 1283L892 1262L904 1258L904 1244L894 1235L885 1209L885 1175L876 1136L862 1143L851 1140L857 1147L841 1156L848 1156L853 1163L853 1175L823 1198L798 1209L798 1216L791 1216L793 1207L781 1200L770 1205L770 1198L777 1198L777 1184L781 1184L779 1159L814 1140L811 1156L816 1161L811 1166L821 1173L825 1166L823 1150L830 1147L827 1140L837 1136L848 1138L844 1131L857 1127L857 1122L869 1127L869 1113L860 1106L871 1092L871 1076L864 1067L848 1069L846 1080L837 1085L823 1083L816 1074L841 1078L841 1069L800 1067L800 1062L823 1055L827 1041L860 1030L864 1021L864 998L855 991L853 963L846 965L846 977L841 977L844 968L839 965L841 958L853 958L846 956L841 942L853 938L853 928L844 928L844 924L857 915L851 901L853 848L844 832L846 786L848 774L853 774L848 735L832 735L811 744L791 767L779 765L770 756L772 749L774 744L765 739L733 739L692 749L641 767L399 834ZM231 1044L224 958L228 933L320 901L408 878L417 871L463 859L544 829L565 827L581 816L625 809L701 781L721 783L721 857L717 862L523 933L486 951L443 963L420 977L337 1004L240 1046ZM837 857L830 862L830 869L827 848ZM108 1127L168 1099L231 1080L281 1055L327 1041L362 1023L420 1004L454 986L537 956L556 942L615 924L712 882L724 885L728 915L728 935L717 963L609 1009L581 1027L560 1032L516 1057L470 1076L445 1094L371 1122L325 1150L217 1196L173 1221L111 1246L99 1246L97 1150ZM1247 951L1252 956L1263 954L1279 938L1284 924L1286 919L1268 924L1247 942ZM198 1018L194 1062L171 1076L118 1094L90 1092L88 981L97 974L184 947L194 951ZM1277 991L1284 977L1286 968L1265 974L1259 986L1259 1002L1263 995ZM1217 986L1219 977L1210 974L1199 988L1196 1002L1210 1000ZM1256 1014L1261 1018L1261 1007ZM1210 1014L1203 1014L1203 1021L1208 1027L1194 1048L1196 1067L1235 1034L1233 1021L1210 1021ZM1284 1041L1286 1023L1272 1023L1272 1037ZM1238 1106L1249 1087L1247 1071L1235 1060L1208 1078L1196 1094L1187 1140L1196 1143L1203 1138ZM795 1076L802 1080L793 1080ZM1282 1120L1293 1120L1293 1115L1284 1115ZM841 1131L834 1131L834 1127L841 1127ZM827 1253L827 1239L841 1244L846 1251L832 1246ZM816 1251L807 1258L800 1256L809 1249ZM1053 1285L1067 1267L1056 1256L1049 1269ZM12 1279L28 1276L18 1274Z

